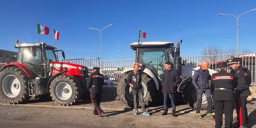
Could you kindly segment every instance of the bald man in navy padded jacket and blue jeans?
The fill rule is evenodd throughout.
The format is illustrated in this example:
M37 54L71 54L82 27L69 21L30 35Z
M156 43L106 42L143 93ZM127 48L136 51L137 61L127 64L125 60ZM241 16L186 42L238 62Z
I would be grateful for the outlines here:
M196 116L202 118L200 114L201 104L202 104L202 95L205 93L207 100L207 116L209 118L214 118L212 115L212 94L210 91L209 80L211 80L211 75L208 70L209 63L203 61L201 68L195 71L192 84L194 85L197 91L197 107L196 107Z

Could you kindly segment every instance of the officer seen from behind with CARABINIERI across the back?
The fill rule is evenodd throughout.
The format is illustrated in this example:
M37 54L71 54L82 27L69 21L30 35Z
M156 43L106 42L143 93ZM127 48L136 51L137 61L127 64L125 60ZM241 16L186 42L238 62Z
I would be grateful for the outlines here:
M214 87L215 128L221 128L223 124L223 111L225 113L225 128L232 128L233 123L234 94L232 83L234 76L233 73L226 72L227 67L227 62L219 62L218 73L212 75L211 86Z

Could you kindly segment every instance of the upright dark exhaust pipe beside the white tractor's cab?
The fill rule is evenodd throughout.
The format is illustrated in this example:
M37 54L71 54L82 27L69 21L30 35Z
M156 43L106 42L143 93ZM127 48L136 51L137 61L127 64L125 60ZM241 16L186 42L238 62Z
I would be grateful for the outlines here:
M178 42L176 47L176 52L174 53L175 57L173 58L173 68L179 71L179 75L181 75L182 71L182 58L180 56L181 52L181 45L182 40Z

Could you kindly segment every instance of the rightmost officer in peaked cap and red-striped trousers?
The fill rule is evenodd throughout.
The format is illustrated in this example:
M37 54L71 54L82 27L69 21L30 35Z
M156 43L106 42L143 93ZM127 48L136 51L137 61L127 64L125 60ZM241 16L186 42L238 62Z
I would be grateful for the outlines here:
M247 128L248 113L247 113L247 97L251 95L251 91L247 86L246 76L247 73L241 69L241 65L238 65L238 59L227 60L229 69L234 73L234 91L236 92L236 113L237 120L240 123L241 128Z

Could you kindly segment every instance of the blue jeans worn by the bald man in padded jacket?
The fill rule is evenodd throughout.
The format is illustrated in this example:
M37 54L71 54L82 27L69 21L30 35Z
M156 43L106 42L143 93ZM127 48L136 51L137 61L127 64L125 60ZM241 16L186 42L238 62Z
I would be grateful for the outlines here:
M196 113L200 113L201 104L202 104L202 96L205 93L206 100L207 100L207 113L212 113L212 94L210 89L200 88L199 91L197 90L197 110Z

